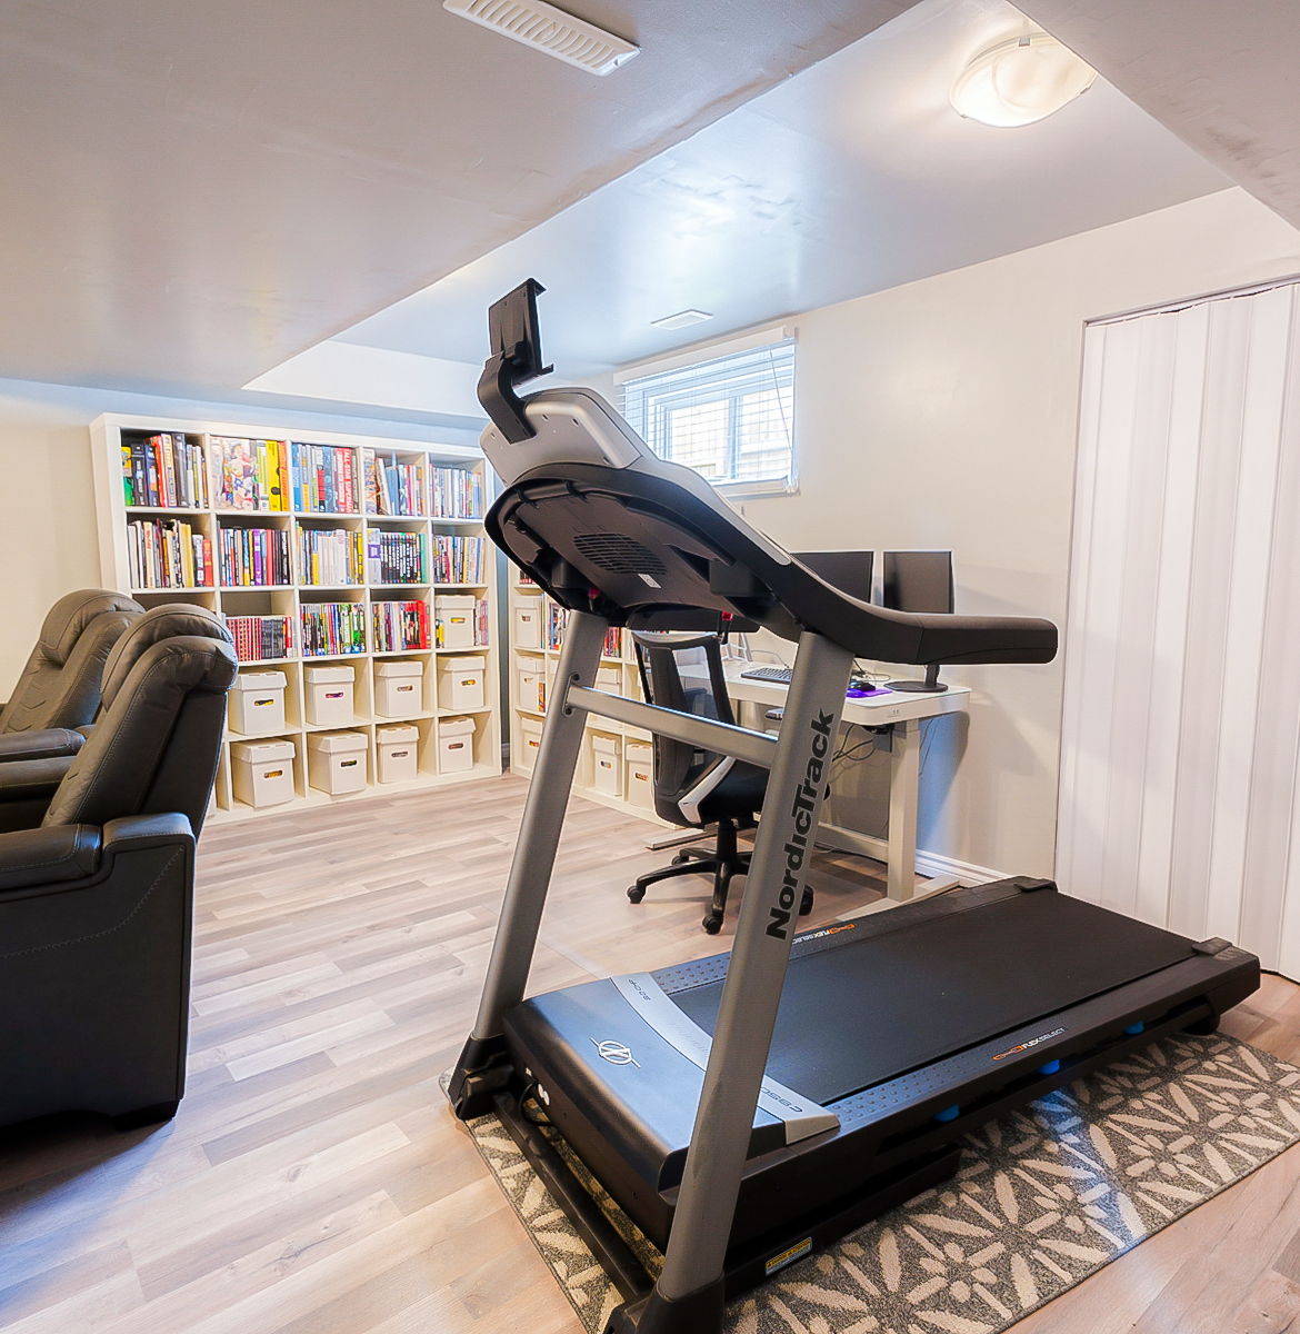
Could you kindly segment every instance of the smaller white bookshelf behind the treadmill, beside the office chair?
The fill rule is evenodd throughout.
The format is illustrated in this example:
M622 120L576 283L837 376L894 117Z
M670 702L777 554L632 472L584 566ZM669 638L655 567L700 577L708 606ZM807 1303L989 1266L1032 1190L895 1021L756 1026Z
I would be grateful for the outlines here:
M531 639L523 634L521 611L532 611L540 627L540 642L532 647ZM528 746L525 730L531 726L533 731L545 720L545 703L549 702L552 687L560 663L560 646L564 642L563 631L564 610L553 603L533 583L519 580L519 571L511 570L509 583L509 724L511 724L511 770L515 774L529 775L532 772L532 748ZM616 690L629 699L644 699L641 678L636 666L636 651L632 646L632 635L627 630L616 631L617 643L611 644L612 651L600 659L600 671L604 678L597 682L600 690ZM531 695L525 698L521 684L521 670L532 670L541 674L545 682L544 699L539 702ZM620 776L619 795L603 791L596 783L596 751L592 739L596 736L611 738L617 743L617 766ZM651 744L651 734L640 727L616 722L612 718L588 718L583 748L579 754L577 772L575 775L573 790L588 800L608 806L612 810L636 815L653 824L671 827L661 820L653 810L648 810L631 800L629 792L632 779L629 776L628 744Z

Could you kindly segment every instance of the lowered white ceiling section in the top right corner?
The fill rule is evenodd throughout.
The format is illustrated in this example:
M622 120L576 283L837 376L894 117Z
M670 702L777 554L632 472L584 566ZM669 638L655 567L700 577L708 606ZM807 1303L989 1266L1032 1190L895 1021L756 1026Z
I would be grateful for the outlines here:
M1024 0L1021 8L1300 227L1296 0Z

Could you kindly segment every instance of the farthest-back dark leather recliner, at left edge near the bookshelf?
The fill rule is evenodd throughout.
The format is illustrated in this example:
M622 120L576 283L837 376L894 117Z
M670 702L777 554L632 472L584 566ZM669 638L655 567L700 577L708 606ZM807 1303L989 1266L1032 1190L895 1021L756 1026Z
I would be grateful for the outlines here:
M144 607L123 592L79 588L45 615L13 694L0 704L0 760L75 755L100 707L113 644Z

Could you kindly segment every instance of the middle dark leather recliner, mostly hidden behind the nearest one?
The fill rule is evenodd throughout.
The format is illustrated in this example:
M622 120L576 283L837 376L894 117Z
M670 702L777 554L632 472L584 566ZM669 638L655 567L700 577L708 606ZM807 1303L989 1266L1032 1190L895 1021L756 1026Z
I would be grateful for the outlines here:
M225 644L231 643L229 631L216 612L205 607L189 606L188 603L165 603L153 607L143 616L132 620L129 628L123 634L108 652L103 666L103 694L104 716L95 727L85 727L80 731L43 730L39 732L24 732L13 738L0 736L0 832L12 830L32 828L45 818L45 811L53 799L55 791L75 766L73 760L80 754L87 736L104 726L109 706L120 694L132 668L155 646L176 636L199 636L212 639ZM100 692L100 691L97 691ZM137 707L147 707L143 702ZM224 710L224 700L217 704L219 711ZM152 747L160 738L151 734L148 728L137 731L137 744ZM73 740L75 739L75 744ZM5 752L5 742L12 740L15 750ZM25 747L19 752L17 747ZM144 756L140 756L141 759ZM136 764L136 756L128 754L121 747L115 751L115 771L120 780L135 782L143 770ZM181 791L189 784L189 776L183 775ZM208 780L211 791L211 779ZM197 836L203 823L203 810L191 811L189 806L176 804L177 791L173 788L163 800L151 810L185 810L195 824ZM189 798L187 796L187 800ZM171 802L171 804L168 804ZM204 796L207 802L207 796ZM192 804L192 803L191 803Z

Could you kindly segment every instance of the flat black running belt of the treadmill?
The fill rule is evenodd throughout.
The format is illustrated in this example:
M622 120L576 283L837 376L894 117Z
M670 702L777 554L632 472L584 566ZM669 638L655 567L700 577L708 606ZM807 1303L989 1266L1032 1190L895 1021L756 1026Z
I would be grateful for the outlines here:
M825 1106L1191 955L1183 936L1052 891L863 935L791 960L768 1074ZM721 990L672 999L712 1034Z

